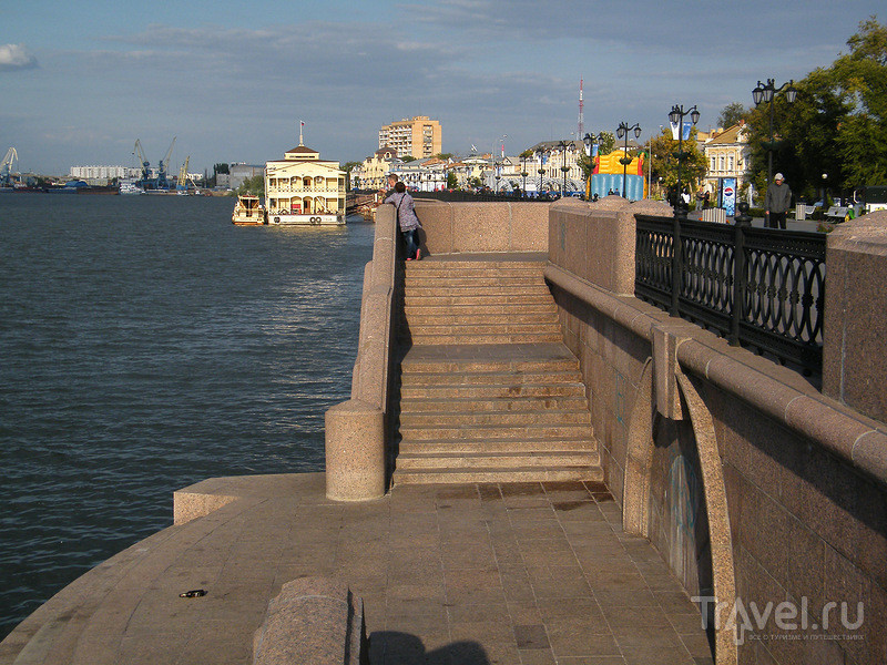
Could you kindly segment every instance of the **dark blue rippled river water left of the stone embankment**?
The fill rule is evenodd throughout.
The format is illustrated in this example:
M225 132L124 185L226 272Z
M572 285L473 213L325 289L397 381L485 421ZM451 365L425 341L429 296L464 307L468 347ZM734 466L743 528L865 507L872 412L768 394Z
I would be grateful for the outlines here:
M0 195L0 638L204 478L318 471L371 225L233 198Z

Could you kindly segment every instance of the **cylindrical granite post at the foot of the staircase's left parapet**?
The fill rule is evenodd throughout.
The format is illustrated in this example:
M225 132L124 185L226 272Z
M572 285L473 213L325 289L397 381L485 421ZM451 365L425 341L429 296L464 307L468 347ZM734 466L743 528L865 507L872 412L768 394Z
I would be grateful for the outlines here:
M381 410L349 399L327 410L326 497L367 501L385 495L385 420Z

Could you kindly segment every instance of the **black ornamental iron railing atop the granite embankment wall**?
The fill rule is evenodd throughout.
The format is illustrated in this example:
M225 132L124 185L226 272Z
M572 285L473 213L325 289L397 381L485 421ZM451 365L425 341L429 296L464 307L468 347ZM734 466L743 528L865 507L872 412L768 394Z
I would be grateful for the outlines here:
M824 234L635 218L635 296L732 345L822 374Z

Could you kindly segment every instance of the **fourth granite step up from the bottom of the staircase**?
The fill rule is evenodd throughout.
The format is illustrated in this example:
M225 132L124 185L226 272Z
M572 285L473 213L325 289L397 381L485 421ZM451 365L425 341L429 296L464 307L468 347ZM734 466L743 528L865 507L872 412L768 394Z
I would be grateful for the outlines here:
M404 417L404 413L400 413ZM540 441L554 439L593 439L594 432L590 423L564 422L516 423L516 424L401 424L400 437L407 442L434 441L446 439L451 441Z

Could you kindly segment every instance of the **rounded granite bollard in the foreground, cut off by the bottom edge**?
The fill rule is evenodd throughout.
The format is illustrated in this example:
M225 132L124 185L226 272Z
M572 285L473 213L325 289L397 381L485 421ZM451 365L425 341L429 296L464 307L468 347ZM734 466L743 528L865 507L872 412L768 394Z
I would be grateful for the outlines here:
M287 582L253 637L253 665L368 665L364 602L325 577Z

